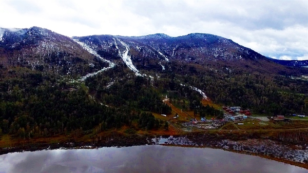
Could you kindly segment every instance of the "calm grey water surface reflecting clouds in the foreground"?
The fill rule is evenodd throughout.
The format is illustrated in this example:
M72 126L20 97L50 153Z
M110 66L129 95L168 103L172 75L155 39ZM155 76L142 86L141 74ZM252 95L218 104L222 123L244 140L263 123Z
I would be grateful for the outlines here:
M3 172L308 172L307 169L220 149L160 145L43 150L0 156Z

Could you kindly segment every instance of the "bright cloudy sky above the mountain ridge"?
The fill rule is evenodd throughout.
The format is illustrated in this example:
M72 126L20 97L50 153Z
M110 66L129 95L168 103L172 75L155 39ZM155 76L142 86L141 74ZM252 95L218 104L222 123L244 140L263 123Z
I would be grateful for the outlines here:
M276 59L308 60L308 1L0 0L0 27L67 36L210 33Z

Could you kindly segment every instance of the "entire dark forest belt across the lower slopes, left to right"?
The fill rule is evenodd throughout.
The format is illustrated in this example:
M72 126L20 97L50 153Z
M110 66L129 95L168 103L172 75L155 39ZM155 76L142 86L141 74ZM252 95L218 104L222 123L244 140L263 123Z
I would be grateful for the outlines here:
M166 70L141 69L148 75L136 76L119 64L84 83L26 67L2 67L0 132L20 138L47 137L132 122L138 122L139 128L157 129L167 123L150 112L170 114L171 108L162 102L165 97L195 115L222 118L222 111L202 105L201 95L190 86L204 91L214 103L238 105L254 113L308 113L308 83L291 74L178 61L164 65Z

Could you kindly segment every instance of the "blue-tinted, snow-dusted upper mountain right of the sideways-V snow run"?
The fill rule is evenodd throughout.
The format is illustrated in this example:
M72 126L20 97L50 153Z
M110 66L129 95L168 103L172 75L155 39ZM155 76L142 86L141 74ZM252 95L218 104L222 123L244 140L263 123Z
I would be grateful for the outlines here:
M73 39L85 43L104 59L122 59L135 72L161 71L162 66L164 69L172 68L168 63L175 61L199 64L214 70L241 67L266 73L288 71L252 49L213 34L191 33L178 37L161 33L145 36L91 35ZM129 58L129 63L123 60L123 55L125 59Z

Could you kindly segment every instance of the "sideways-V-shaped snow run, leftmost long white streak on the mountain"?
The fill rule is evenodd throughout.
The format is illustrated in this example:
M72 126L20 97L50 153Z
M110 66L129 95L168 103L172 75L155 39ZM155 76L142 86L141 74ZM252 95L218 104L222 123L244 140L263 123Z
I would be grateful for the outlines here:
M109 61L109 60L104 59L102 56L100 56L97 52L95 52L93 49L91 49L91 48L90 48L88 45L86 45L85 43L80 42L80 41L77 40L77 39L72 39L72 40L75 41L76 43L78 43L81 47L83 47L83 48L84 48L85 50L87 50L89 53L91 53L91 54L93 54L93 55L99 57L100 60L102 60L102 61L104 61L105 63L108 63L108 64L109 64L109 67L104 67L104 68L102 68L102 69L99 70L99 71L96 71L96 72L94 72L94 73L89 73L89 74L87 74L87 75L85 75L85 76L82 76L81 79L79 79L79 81L83 82L83 81L85 81L87 78L89 78L89 77L91 77L91 76L94 76L94 75L97 75L98 73L103 72L103 71L105 71L105 70L108 70L108 69L110 69L110 68L113 68L113 67L115 66L114 63L112 63L112 62Z

